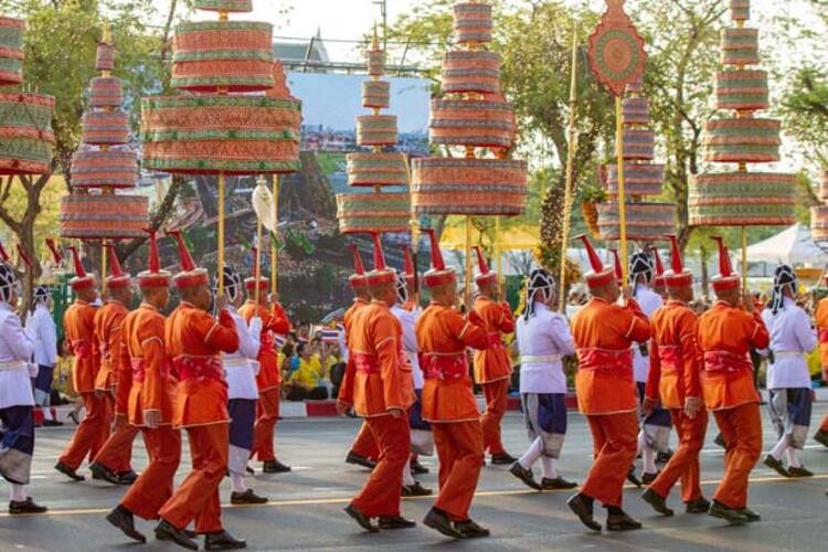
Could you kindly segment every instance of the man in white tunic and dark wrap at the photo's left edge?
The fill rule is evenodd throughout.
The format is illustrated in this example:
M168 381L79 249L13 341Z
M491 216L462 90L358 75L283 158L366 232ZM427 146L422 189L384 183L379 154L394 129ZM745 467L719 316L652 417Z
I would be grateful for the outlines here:
M9 513L42 513L46 508L25 493L34 453L31 378L38 367L31 362L34 342L13 310L18 279L8 262L0 245L0 475L11 484Z

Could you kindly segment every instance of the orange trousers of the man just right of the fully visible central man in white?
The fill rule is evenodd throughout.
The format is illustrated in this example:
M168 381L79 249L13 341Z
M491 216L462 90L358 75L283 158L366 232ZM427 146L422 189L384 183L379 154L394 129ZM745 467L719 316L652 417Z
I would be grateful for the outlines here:
M638 447L638 414L587 415L595 459L581 492L605 507L622 505L627 471Z

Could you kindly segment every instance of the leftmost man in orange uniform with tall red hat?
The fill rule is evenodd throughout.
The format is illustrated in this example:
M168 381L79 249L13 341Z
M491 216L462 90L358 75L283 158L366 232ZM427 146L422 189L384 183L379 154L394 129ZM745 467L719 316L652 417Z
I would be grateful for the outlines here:
M97 282L94 274L86 274L75 247L70 247L75 263L75 277L70 286L75 293L75 302L63 315L63 331L66 346L75 361L72 367L72 382L81 394L86 417L77 426L68 446L57 458L55 469L75 481L83 481L84 476L77 468L88 455L89 461L97 456L109 435L109 416L107 403L95 393L95 378L100 369L100 352L95 339L95 307L97 300Z

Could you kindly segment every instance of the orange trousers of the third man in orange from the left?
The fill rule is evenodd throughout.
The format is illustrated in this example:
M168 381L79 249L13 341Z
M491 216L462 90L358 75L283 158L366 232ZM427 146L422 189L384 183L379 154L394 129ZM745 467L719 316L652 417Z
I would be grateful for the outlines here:
M158 510L172 496L172 481L181 461L181 429L163 425L157 429L145 427L141 434L149 464L120 505L139 518L158 519Z

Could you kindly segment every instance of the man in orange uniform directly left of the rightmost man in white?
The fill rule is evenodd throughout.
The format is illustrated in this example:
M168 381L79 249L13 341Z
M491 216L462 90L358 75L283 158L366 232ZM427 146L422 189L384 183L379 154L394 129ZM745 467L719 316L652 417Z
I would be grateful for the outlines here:
M747 508L747 478L762 454L760 395L753 384L751 348L771 343L751 297L742 297L741 277L719 243L719 274L711 279L716 302L699 319L698 341L704 353L704 404L715 416L724 439L724 477L713 495L710 516L731 523L758 521Z

